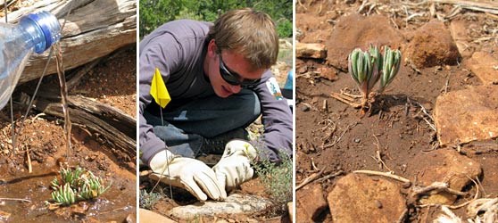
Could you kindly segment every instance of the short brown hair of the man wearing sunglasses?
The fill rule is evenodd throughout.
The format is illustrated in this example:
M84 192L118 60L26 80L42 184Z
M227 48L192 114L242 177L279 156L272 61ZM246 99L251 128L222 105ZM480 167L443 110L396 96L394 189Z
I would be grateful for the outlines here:
M278 33L270 15L250 8L231 10L222 14L209 30L217 54L235 50L243 54L253 69L269 69L277 62Z

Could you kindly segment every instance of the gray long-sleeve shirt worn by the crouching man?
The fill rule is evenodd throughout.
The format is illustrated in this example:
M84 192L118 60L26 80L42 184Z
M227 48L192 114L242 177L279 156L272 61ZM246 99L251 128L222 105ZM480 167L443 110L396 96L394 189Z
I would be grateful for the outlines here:
M158 68L170 93L171 102L165 108L175 108L197 98L215 95L204 76L203 60L207 51L207 34L212 23L202 21L170 21L146 36L139 48L139 145L142 161L149 163L154 154L167 149L147 124L144 111L154 103L150 95L154 71ZM292 154L292 114L286 100L278 97L270 70L253 87L261 103L264 124L264 150L270 161L278 161L278 153Z

